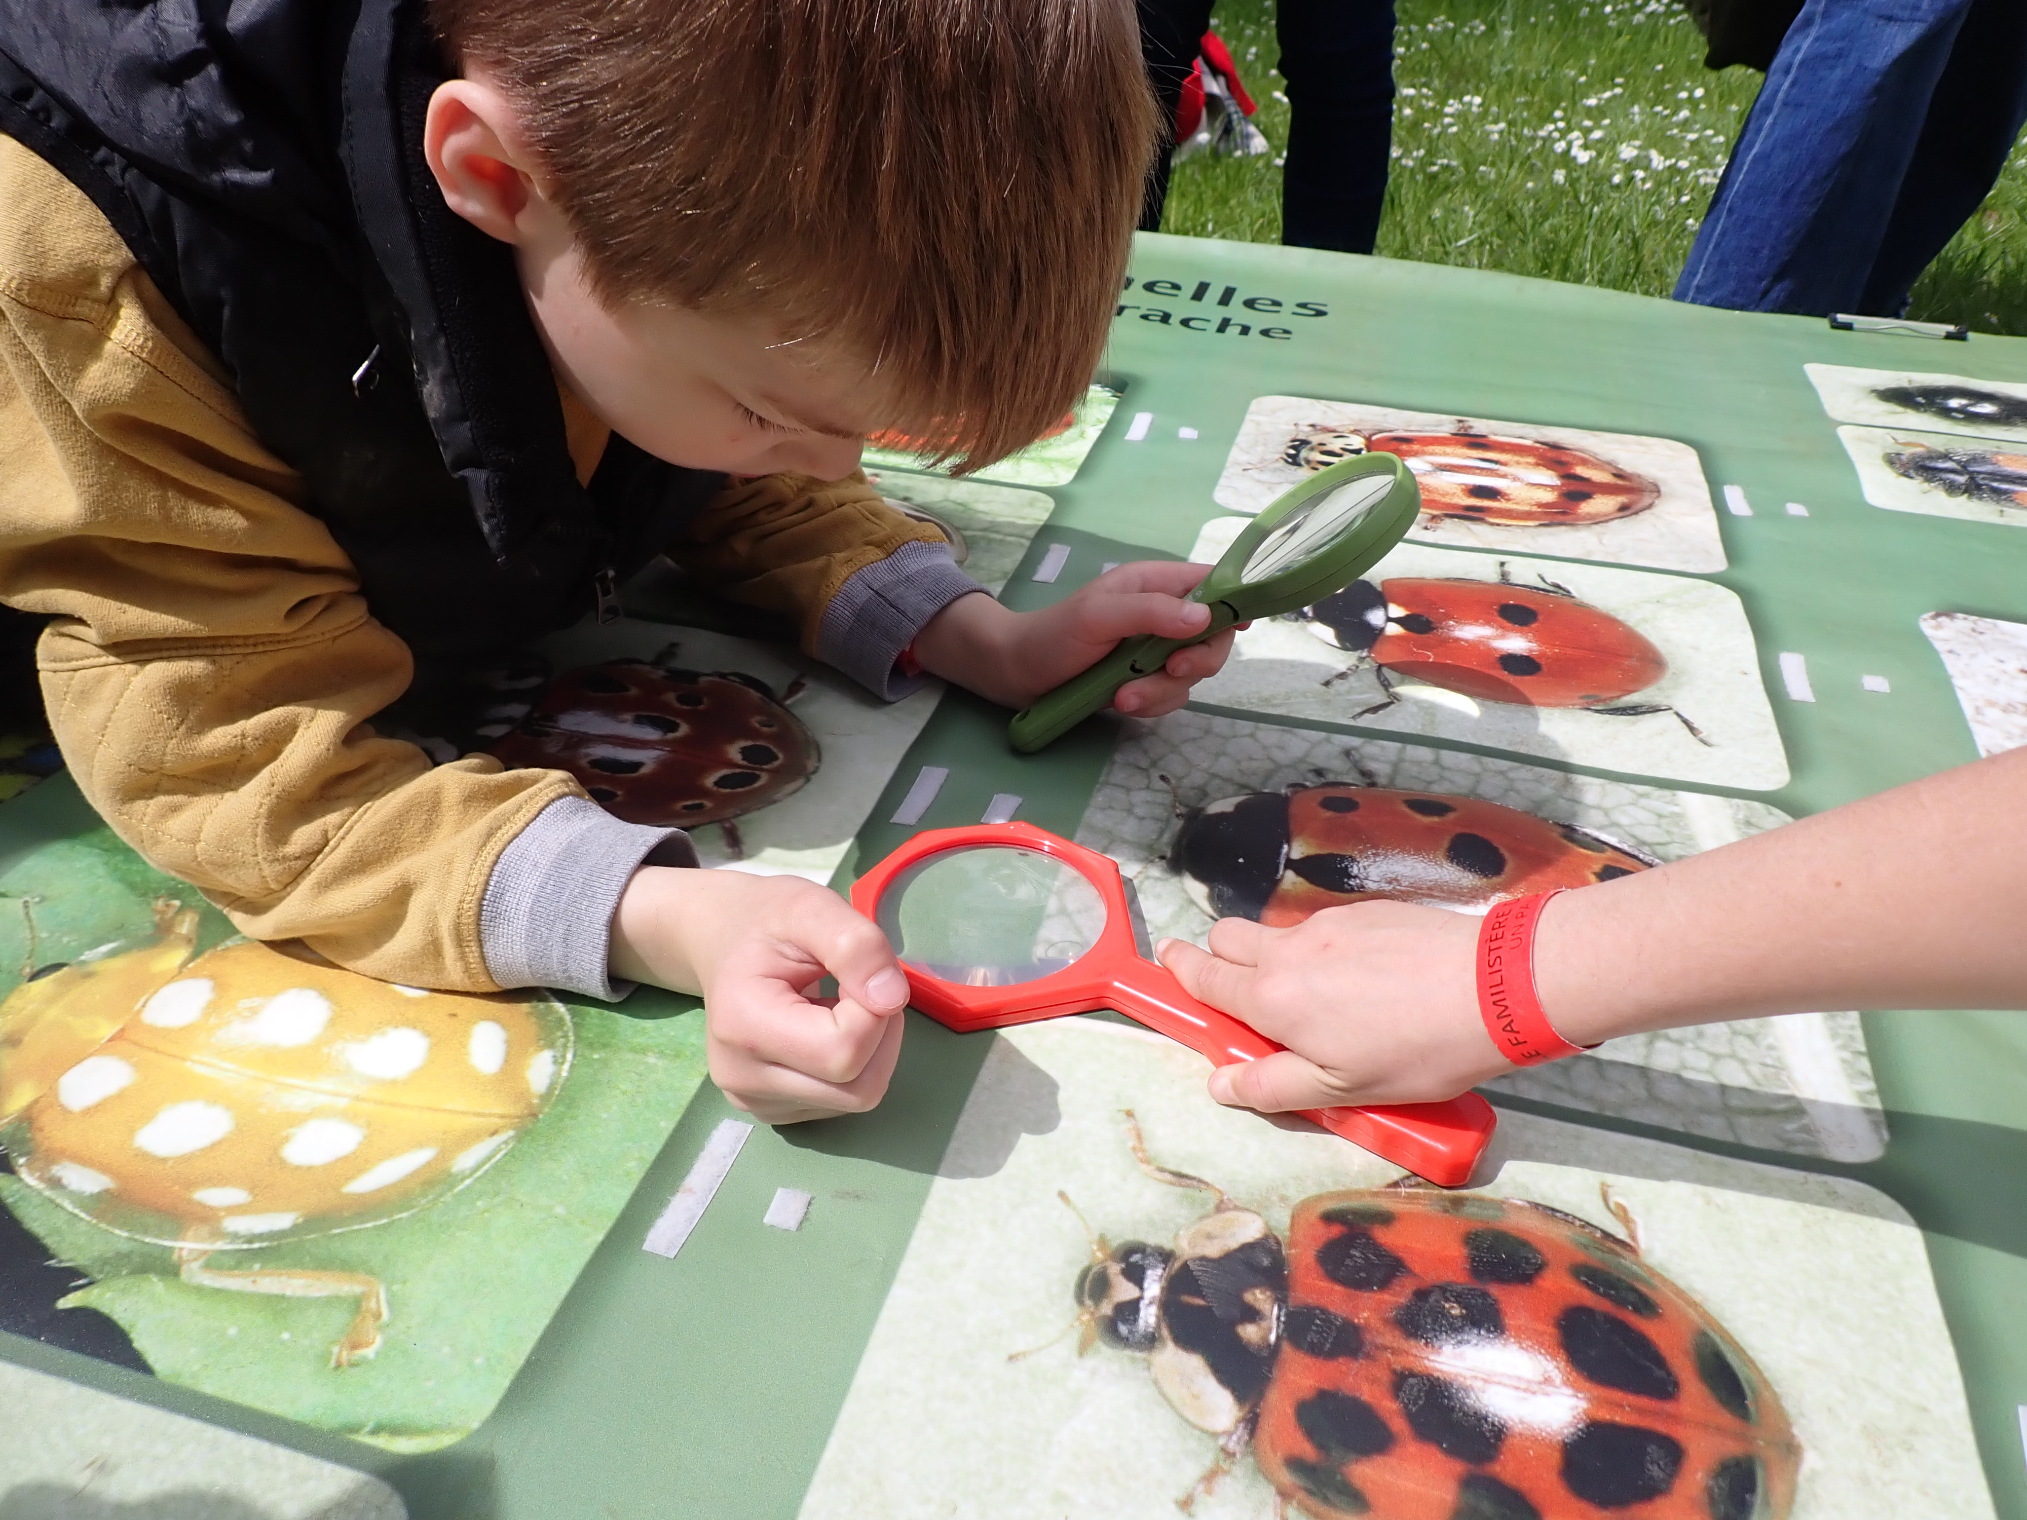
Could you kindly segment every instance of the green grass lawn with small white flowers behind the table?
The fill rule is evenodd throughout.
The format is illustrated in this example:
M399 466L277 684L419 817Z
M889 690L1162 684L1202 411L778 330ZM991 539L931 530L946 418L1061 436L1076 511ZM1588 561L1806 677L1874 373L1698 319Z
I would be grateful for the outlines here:
M1399 12L1378 251L1666 296L1759 75L1709 73L1676 0L1399 0ZM1273 0L1222 0L1216 26L1275 152L1178 164L1161 225L1273 243L1287 140ZM2027 150L1916 286L1911 314L2027 334Z

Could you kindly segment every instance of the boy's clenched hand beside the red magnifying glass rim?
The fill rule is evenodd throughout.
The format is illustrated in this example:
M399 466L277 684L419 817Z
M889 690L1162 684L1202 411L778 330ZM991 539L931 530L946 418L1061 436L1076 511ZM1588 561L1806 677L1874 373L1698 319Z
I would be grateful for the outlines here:
M703 995L711 1080L768 1125L866 1113L900 1058L908 979L872 920L795 876L645 865L612 975ZM835 977L841 997L817 997Z

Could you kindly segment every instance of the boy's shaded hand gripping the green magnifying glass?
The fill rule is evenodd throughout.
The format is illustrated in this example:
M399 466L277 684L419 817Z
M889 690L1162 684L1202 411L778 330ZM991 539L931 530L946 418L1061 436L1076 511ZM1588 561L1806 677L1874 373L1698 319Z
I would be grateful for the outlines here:
M961 596L930 618L914 640L922 669L1007 707L1088 671L1121 638L1188 638L1210 622L1210 608L1184 602L1210 565L1141 559L1107 569L1095 582L1040 612L1009 612L991 596ZM1232 651L1232 632L1178 649L1157 675L1127 681L1113 707L1159 717L1190 699L1190 687L1214 675Z

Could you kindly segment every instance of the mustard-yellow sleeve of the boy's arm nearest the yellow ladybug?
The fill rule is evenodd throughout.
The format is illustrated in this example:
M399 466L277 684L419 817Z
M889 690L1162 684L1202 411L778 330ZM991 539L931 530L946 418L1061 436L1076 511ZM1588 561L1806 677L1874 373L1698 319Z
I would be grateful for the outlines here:
M249 934L491 989L493 863L576 786L373 732L407 649L111 227L10 140L0 276L0 596L55 618L43 691L85 796Z

